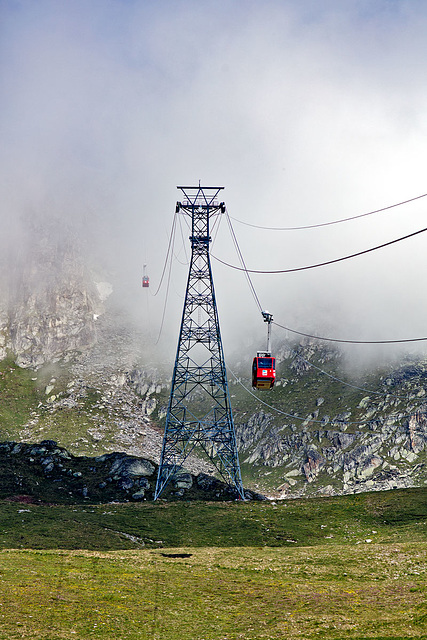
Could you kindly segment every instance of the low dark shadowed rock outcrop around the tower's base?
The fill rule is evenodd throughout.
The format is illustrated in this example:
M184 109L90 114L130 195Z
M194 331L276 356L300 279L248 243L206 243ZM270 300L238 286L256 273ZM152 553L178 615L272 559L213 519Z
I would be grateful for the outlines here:
M0 443L0 497L54 503L152 500L157 465L114 452L93 458L73 456L54 440ZM264 496L250 490L246 499ZM179 470L161 496L168 500L235 500L237 492L204 473Z

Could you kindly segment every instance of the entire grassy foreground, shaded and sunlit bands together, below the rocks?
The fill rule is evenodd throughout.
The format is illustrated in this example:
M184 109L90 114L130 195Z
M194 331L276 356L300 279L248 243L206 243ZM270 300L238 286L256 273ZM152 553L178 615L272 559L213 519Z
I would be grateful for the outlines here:
M0 639L427 638L425 490L0 515Z

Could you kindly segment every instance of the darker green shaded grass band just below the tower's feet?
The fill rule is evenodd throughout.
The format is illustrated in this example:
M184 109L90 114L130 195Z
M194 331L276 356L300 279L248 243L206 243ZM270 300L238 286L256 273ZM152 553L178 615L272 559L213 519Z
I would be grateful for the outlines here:
M153 541L158 540L165 547L427 542L426 494L425 489L407 489L277 503L2 502L0 548L106 551L156 547Z

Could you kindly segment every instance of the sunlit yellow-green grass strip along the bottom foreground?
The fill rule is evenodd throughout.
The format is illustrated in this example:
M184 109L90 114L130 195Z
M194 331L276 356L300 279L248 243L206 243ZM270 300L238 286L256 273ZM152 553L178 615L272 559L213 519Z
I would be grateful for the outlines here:
M425 544L3 551L7 639L422 638Z

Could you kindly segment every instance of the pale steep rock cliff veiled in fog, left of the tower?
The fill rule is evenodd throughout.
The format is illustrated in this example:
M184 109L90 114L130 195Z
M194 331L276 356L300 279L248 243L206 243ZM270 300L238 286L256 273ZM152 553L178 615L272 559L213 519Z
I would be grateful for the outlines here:
M3 283L0 355L10 350L22 367L37 369L96 340L101 296L77 241L58 227L55 220L29 225L25 252L13 257Z

